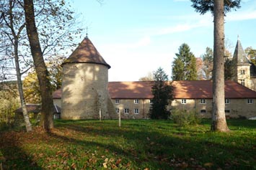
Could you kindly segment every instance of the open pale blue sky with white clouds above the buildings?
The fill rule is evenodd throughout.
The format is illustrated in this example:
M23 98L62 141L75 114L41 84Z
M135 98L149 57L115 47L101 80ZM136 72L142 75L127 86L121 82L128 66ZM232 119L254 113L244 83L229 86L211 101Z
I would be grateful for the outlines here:
M182 43L195 57L213 48L213 17L200 15L189 0L70 0L81 13L88 37L111 66L109 81L136 81L163 67L171 76L172 61ZM256 48L256 1L242 0L241 8L226 16L225 36L234 46L237 35ZM86 32L81 35L81 40Z

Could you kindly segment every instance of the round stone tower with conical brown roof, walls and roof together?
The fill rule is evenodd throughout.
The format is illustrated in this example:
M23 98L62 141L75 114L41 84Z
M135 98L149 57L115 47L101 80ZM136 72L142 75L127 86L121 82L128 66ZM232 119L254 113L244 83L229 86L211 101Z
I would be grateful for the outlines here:
M61 118L109 118L107 102L110 65L88 37L63 62Z

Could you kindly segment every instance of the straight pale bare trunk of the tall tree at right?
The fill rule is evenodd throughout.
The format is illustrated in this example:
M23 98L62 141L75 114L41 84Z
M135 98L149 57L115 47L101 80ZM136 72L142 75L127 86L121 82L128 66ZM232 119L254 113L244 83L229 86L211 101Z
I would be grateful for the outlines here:
M212 131L229 131L224 91L224 0L214 0L213 113Z

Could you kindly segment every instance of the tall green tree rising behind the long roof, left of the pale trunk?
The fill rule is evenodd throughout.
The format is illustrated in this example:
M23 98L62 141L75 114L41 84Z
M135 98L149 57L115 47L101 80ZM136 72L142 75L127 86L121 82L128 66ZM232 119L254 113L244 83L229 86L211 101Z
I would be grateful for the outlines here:
M179 47L179 53L172 64L172 80L196 80L196 59L187 44Z

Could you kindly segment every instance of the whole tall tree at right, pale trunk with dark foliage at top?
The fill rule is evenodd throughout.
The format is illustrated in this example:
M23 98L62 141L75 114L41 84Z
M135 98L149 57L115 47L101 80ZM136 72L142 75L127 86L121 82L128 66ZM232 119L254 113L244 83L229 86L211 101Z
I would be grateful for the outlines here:
M211 11L214 22L213 46L213 113L212 131L229 131L225 117L224 95L224 15L240 7L240 0L191 0L200 14Z

